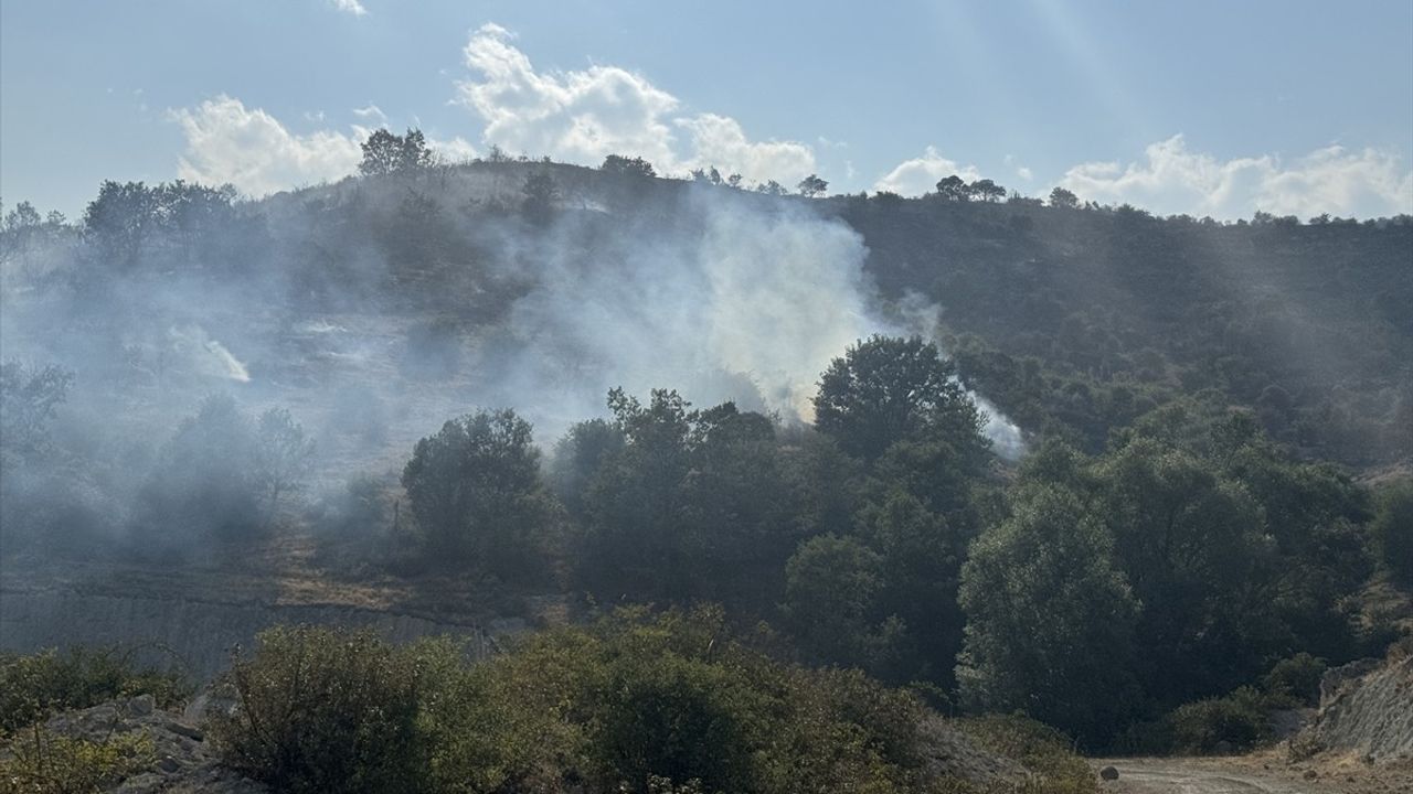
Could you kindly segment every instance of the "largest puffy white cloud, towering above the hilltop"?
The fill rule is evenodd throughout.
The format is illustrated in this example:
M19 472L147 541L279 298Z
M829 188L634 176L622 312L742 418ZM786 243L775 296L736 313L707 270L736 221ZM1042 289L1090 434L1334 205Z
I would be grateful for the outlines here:
M680 114L675 96L619 66L536 71L513 41L506 28L486 24L465 48L476 76L458 82L456 102L485 119L486 144L585 164L608 154L636 155L666 174L715 165L752 181L797 181L815 168L807 144L752 141L735 119Z

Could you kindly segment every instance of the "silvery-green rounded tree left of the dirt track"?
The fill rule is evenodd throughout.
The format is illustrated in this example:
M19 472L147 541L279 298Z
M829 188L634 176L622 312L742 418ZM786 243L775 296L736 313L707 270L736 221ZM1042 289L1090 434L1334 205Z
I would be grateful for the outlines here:
M1139 602L1088 513L1068 490L1033 487L976 540L957 678L964 704L1019 709L1092 746L1132 713L1129 654L1143 646Z

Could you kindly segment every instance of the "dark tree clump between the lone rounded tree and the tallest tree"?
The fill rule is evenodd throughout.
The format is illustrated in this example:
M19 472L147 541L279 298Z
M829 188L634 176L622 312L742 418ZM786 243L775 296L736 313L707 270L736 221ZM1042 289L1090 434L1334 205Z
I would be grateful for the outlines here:
M675 391L647 405L609 393L623 441L584 497L578 555L581 581L605 596L759 599L797 540L770 420L690 407Z

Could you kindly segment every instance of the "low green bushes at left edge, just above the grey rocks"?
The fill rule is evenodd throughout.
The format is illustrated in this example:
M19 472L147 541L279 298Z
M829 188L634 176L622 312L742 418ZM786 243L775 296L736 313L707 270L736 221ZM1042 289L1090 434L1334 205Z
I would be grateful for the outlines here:
M64 709L148 694L168 708L191 694L181 675L137 667L140 648L75 647L59 653L0 654L0 733L16 732Z

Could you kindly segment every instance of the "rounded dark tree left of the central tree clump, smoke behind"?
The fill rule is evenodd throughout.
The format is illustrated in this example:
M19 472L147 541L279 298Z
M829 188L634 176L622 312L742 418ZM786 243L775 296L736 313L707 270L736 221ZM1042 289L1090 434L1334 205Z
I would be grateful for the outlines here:
M468 414L418 441L403 487L430 559L502 575L537 562L551 503L530 422L514 411Z

